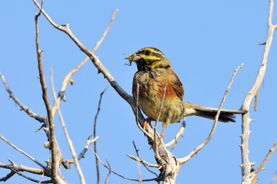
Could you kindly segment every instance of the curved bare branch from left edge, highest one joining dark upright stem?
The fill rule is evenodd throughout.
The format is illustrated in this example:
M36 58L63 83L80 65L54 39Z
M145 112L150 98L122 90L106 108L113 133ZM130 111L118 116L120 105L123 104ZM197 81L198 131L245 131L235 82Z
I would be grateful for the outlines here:
M45 122L45 117L39 116L38 114L36 114L32 110L30 110L26 105L22 104L21 101L19 101L19 99L17 99L17 96L15 96L15 94L13 94L13 92L8 87L8 83L6 82L5 77L3 76L3 74L1 74L1 72L0 72L0 76L1 76L3 84L6 87L6 91L10 95L10 98L12 98L12 100L15 101L15 103L17 103L17 105L19 105L21 110L24 110L24 112L26 112L30 117L36 119L37 121L39 121L41 123Z

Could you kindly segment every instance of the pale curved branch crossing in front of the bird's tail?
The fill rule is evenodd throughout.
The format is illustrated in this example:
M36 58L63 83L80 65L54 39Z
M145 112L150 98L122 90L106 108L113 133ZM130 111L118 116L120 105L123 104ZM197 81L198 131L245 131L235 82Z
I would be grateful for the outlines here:
M231 84L233 83L233 79L235 78L235 74L237 74L238 70L239 70L240 68L242 68L242 65L243 65L243 63L242 63L237 69L235 69L235 72L233 73L233 77L232 77L232 79L231 79L231 81L230 81L230 83L229 83L229 85L228 85L227 90L226 90L225 93L224 93L222 102L220 103L220 107L219 107L218 110L217 110L217 114L216 114L216 116L215 116L215 123L213 123L213 128L212 128L212 130L211 130L211 133L208 135L208 138L207 138L201 145L198 145L198 146L195 148L195 150L193 150L193 152L190 152L190 154L188 154L188 156L185 156L184 158L179 159L181 165L184 164L184 163L186 163L186 161L188 161L189 159L191 159L191 157L193 157L195 154L197 154L197 152L198 152L199 150L201 150L201 149L208 143L208 141L211 140L211 138L212 138L212 136L213 136L213 133L215 132L215 127L216 127L216 125L217 125L218 117L220 116L220 110L221 110L221 108L222 108L222 105L223 105L223 103L224 103L224 101L225 101L225 99L226 99L226 96L227 96L227 94L228 94L228 92L229 92L229 90L230 90Z

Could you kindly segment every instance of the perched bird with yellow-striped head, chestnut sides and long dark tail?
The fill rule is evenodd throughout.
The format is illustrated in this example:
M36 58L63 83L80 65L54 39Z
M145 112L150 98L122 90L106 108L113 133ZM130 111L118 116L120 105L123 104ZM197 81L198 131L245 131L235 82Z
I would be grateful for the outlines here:
M134 99L138 97L136 103L148 116L143 122L143 129L148 125L151 126L151 121L157 120L165 85L166 94L159 116L159 121L163 122L161 139L163 139L164 130L168 124L177 123L186 116L196 115L215 119L217 108L208 108L183 101L184 86L161 50L152 47L142 48L134 54L129 54L129 57L125 57L125 59L129 60L130 64L136 63L138 69L134 74L132 94ZM245 110L221 110L218 121L235 122L234 114L244 113L246 113Z

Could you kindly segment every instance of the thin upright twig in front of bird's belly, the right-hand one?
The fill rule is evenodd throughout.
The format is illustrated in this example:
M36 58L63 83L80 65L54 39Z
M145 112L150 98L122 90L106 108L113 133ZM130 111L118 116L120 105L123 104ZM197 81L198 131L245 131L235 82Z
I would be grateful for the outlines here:
M158 160L158 163L161 163L161 156L159 155L158 143L157 143L157 125L158 125L158 122L159 122L159 119L160 119L160 116L161 116L161 110L163 108L164 99L166 97L166 86L167 85L168 85L168 81L166 81L166 83L164 85L164 88L163 88L163 99L161 101L161 105L160 105L160 108L159 108L159 114L157 116L156 123L155 123L155 126L154 126L154 152L155 152L155 158ZM162 143L161 138L159 138L159 140Z

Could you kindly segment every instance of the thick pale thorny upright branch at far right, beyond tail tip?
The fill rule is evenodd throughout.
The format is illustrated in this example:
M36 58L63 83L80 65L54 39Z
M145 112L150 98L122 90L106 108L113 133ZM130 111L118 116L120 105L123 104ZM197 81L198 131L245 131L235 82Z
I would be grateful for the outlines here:
M267 41L265 44L265 50L262 57L262 63L260 65L260 69L256 76L256 80L253 83L251 90L245 96L244 102L242 103L242 110L249 110L250 103L255 96L256 92L260 88L260 84L265 76L265 70L267 68L267 57L269 54L269 49L271 46L271 42L273 39L273 33L276 29L276 25L272 25L272 17L273 17L273 7L274 1L269 0L269 18L268 18L268 30L267 30ZM251 177L251 162L249 161L249 123L253 121L249 118L249 112L242 114L242 134L240 135L241 138L241 154L242 154L242 183L250 183L253 180L253 176Z

